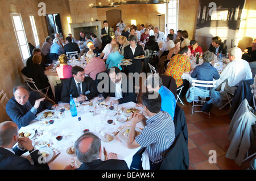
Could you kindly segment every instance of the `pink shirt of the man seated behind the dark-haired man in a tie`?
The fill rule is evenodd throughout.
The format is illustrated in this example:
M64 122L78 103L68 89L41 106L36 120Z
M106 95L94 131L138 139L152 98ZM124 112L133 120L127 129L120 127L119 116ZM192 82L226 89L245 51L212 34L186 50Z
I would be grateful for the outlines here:
M97 73L105 71L105 62L99 57L92 58L92 60L84 68L84 73L89 75L95 81Z

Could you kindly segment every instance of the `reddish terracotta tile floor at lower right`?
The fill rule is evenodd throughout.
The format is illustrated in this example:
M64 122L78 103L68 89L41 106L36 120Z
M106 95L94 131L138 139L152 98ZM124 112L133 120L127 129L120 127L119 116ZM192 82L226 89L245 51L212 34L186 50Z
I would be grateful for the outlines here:
M239 167L232 159L225 157L229 148L229 135L227 134L230 119L230 107L222 110L212 107L210 118L206 113L193 113L192 103L184 101L184 110L188 127L189 170L244 170L249 167L251 159L243 162ZM212 154L209 150L216 150L216 163L209 163Z

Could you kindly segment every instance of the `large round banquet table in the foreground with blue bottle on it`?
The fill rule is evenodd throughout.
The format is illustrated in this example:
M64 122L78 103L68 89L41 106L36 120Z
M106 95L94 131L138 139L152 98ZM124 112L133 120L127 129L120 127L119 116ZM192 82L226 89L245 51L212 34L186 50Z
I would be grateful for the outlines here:
M96 98L94 98L96 99ZM49 121L51 119L55 120L53 124L47 124L44 126L43 135L37 136L35 139L35 136L31 138L32 144L35 144L35 148L39 150L46 150L51 149L48 148L47 145L43 148L38 147L38 143L40 141L49 141L53 142L52 148L57 149L60 151L60 154L56 159L53 160L53 162L49 163L49 168L51 170L62 170L65 166L71 165L72 158L75 158L75 168L80 166L80 162L77 160L76 155L70 155L67 153L68 148L70 146L73 146L75 141L79 136L83 134L84 129L89 129L90 132L93 132L97 134L101 138L101 133L107 133L114 136L113 132L117 131L118 128L125 127L121 129L119 133L122 132L122 130L126 130L129 127L126 127L130 125L130 120L128 119L129 116L126 116L126 121L119 123L116 118L119 116L126 115L127 113L125 111L119 111L121 115L117 114L117 110L109 110L109 107L106 105L109 105L109 103L112 100L116 100L117 98L108 97L105 100L105 105L103 106L97 106L97 108L93 106L89 106L90 102L84 102L80 104L79 107L77 107L77 116L72 117L71 112L69 111L69 104L65 104L65 112L64 118L57 118L57 116L54 114L51 118L47 119L44 118L43 112L46 111L52 111L54 110L44 110L43 112L39 113L34 121L31 121L27 127L22 127L19 130L20 132L27 132L31 129L39 129L39 121L46 120ZM91 100L93 102L93 100ZM133 108L135 107L134 102L119 104L118 107L120 110L125 110L126 108ZM143 111L143 108L139 108L141 111ZM90 111L95 111L96 114L92 115ZM62 116L62 115L61 115ZM79 121L79 117L81 117L81 121ZM107 119L113 119L115 124L108 124L106 122ZM137 129L142 130L142 124L137 124ZM102 131L102 132L101 132ZM57 136L63 136L63 140L57 141ZM105 147L106 152L110 153L117 153L118 159L123 159L127 163L127 166L130 168L131 162L133 160L133 155L137 153L137 151L140 148L136 149L128 149L127 144L123 139L121 139L121 136L117 134L114 136L114 140L110 142L104 142L101 138L101 148L102 148L102 155L101 159L104 161L104 151L103 148ZM51 149L52 150L52 149ZM52 151L53 155L56 155L57 151ZM22 155L23 157L29 158L30 155L27 153Z

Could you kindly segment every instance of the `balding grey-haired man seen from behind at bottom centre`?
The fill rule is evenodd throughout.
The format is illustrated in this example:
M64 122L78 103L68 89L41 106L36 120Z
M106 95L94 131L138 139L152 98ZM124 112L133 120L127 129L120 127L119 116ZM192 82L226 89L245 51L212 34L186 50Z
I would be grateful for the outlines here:
M95 134L82 134L75 142L76 157L82 163L77 170L129 170L127 163L117 159L117 154L109 153L107 160L101 161L101 140ZM67 170L75 169L71 165Z

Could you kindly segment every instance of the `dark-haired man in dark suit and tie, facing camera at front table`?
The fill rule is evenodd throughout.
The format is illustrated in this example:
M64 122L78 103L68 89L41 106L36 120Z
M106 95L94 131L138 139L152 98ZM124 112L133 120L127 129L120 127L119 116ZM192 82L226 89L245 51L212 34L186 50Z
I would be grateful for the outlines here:
M61 101L69 103L70 95L73 98L82 96L83 100L90 100L97 96L97 89L93 79L85 77L84 69L80 66L73 66L72 68L73 77L63 82L63 89L61 92Z

